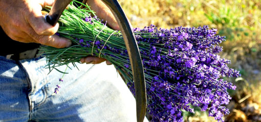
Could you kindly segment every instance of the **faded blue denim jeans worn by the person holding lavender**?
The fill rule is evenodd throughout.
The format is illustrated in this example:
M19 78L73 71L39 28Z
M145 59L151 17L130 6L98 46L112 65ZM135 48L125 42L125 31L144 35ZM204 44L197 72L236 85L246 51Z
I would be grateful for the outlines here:
M46 64L42 57L14 61L0 56L1 122L136 121L134 96L113 65L57 67L68 72L63 76Z

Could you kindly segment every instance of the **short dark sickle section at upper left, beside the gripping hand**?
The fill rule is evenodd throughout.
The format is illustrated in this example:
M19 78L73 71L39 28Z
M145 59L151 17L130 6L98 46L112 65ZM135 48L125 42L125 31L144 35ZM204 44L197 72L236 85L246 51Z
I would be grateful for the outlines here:
M72 2L72 0L56 0L45 19L50 25L55 26L62 12Z

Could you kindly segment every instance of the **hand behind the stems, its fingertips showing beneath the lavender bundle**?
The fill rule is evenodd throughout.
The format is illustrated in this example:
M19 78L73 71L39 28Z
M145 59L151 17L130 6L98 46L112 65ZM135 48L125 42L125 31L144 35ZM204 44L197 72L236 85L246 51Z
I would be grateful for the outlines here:
M88 0L87 4L90 6L92 10L96 12L96 15L103 20L107 20L108 26L110 26L114 30L120 30L120 27L117 23L116 18L114 17L113 13L111 10L101 1L101 0ZM94 56L88 56L85 58L82 58L81 63L92 63L92 64L98 64L105 59L103 58L98 58ZM109 61L106 61L106 64L112 64Z

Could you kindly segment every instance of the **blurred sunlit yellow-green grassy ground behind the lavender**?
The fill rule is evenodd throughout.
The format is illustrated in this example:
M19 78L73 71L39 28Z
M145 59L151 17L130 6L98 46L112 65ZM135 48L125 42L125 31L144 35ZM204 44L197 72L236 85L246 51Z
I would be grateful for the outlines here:
M237 86L225 121L261 121L261 0L118 0L133 27L158 28L208 25L226 36L219 54L231 60L242 77L227 79ZM194 108L185 121L215 121Z

